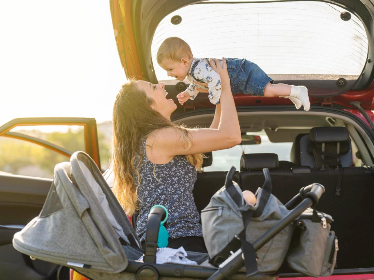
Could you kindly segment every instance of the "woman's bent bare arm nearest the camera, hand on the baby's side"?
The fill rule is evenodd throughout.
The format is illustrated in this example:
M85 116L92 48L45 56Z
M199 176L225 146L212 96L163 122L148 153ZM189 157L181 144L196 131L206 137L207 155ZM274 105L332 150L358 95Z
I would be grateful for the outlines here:
M172 158L176 155L212 152L231 148L241 142L240 125L230 88L226 60L223 59L222 66L219 60L209 59L209 64L221 75L221 118L219 122L217 118L214 121L214 126L217 128L191 129L189 133L190 147L186 147L184 144L181 138L181 130L177 128L159 130L154 134L153 143L150 143L155 157ZM218 113L216 111L217 117L219 116Z

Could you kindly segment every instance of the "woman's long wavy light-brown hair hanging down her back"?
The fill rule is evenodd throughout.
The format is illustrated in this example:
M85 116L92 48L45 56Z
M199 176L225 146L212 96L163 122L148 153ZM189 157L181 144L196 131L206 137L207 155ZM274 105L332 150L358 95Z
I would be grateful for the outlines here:
M136 80L130 79L122 85L113 108L111 159L114 171L113 192L127 215L132 215L138 209L137 188L140 185L138 170L143 161L142 141L147 139L154 130L175 127L181 130L181 137L187 149L191 146L188 128L173 124L159 112L154 111L151 108L153 99L147 97L135 82ZM186 157L191 165L198 171L201 170L202 154L186 155Z

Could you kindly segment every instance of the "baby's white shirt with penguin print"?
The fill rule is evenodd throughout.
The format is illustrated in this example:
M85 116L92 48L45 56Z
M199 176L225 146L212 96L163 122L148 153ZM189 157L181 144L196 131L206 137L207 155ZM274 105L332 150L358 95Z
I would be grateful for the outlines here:
M194 78L196 78L196 80ZM199 87L209 90L208 96L211 103L219 104L222 87L221 76L212 69L207 59L193 59L190 72L187 76L187 80L191 83L190 86L186 89L187 93L190 94L191 100L194 100L199 93L199 91L196 89L196 87ZM196 84L196 81L207 83L208 88Z

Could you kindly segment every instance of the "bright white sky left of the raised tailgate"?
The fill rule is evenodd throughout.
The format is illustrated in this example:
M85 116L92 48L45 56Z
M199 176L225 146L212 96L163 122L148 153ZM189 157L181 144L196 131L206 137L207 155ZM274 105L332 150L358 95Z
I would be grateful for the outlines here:
M0 125L24 117L110 121L125 81L108 0L0 1Z

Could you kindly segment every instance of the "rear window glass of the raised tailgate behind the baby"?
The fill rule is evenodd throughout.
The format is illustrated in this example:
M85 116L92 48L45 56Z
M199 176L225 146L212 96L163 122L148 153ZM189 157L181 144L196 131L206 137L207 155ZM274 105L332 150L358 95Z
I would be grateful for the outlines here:
M171 22L175 15L181 17L177 25ZM187 41L195 57L246 58L278 83L309 81L304 84L311 93L348 90L361 75L368 53L361 21L334 4L208 1L178 9L156 29L151 47L154 71L167 84L177 81L157 64L156 54L162 41L173 36ZM338 85L341 78L344 85Z

